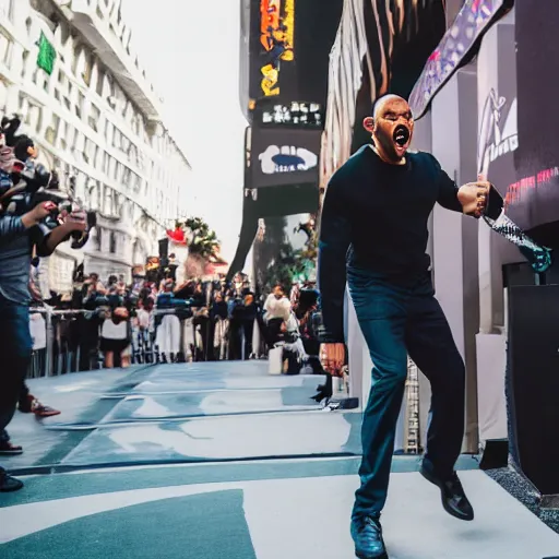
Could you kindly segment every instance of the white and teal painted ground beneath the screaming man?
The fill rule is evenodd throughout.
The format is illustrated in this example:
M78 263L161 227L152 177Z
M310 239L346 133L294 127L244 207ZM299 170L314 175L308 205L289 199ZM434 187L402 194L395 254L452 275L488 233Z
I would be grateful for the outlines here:
M0 495L2 559L353 558L359 413L320 377L264 362L158 366L31 381L62 415L10 426L22 491ZM559 557L559 535L463 456L476 519L449 516L417 457L394 459L391 559Z

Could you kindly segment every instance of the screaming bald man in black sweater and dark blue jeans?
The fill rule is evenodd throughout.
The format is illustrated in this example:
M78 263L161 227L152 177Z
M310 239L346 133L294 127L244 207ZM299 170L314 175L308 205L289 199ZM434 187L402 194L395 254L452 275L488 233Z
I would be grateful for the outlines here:
M364 127L372 143L332 176L324 197L319 241L321 360L332 374L344 365L347 281L373 362L352 536L358 558L381 559L386 551L380 514L408 355L432 390L421 474L440 488L449 514L474 519L454 471L464 436L465 369L435 298L427 222L436 203L480 217L491 186L479 180L459 188L431 154L408 153L414 120L402 97L381 97Z

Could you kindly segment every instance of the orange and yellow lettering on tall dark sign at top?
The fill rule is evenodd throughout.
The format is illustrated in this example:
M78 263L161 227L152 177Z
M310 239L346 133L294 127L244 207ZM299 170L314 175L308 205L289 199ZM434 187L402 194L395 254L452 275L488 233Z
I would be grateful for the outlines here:
M261 88L270 97L281 93L282 63L295 60L295 0L261 0L260 14L260 43L265 62L260 69Z

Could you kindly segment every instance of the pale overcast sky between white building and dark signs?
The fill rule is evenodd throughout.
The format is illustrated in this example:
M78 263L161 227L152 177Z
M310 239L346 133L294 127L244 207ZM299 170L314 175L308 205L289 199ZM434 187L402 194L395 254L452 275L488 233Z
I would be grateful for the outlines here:
M243 135L239 105L239 0L123 0L142 66L165 120L193 167L192 216L216 230L230 262L241 225Z

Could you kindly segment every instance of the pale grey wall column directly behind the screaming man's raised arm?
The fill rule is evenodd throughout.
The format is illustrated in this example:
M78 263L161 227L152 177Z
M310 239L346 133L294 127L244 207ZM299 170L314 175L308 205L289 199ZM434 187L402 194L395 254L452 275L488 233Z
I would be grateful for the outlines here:
M476 68L471 66L460 70L432 104L432 153L459 185L476 179ZM472 217L436 206L432 230L435 288L466 365L465 450L472 452L477 450L477 231L478 224Z

